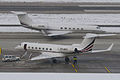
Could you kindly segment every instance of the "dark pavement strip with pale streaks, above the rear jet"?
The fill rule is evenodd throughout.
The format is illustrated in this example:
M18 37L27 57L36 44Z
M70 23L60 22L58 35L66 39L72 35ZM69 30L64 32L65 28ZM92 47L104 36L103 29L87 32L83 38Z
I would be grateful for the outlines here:
M120 3L23 3L1 2L0 12L27 11L34 13L120 13Z

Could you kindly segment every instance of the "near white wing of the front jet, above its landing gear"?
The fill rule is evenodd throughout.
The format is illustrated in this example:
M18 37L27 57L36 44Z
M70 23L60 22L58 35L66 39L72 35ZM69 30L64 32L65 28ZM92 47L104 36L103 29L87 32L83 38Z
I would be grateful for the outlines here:
M31 58L31 60L41 60L41 59L49 59L49 58L57 58L64 57L63 53L54 53L54 52L42 52L39 56Z

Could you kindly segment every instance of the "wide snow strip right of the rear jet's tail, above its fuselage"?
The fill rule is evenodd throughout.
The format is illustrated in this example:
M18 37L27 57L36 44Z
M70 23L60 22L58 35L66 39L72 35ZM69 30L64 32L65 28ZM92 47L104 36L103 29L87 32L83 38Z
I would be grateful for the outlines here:
M32 14L29 15L36 24L48 25L120 25L120 14Z

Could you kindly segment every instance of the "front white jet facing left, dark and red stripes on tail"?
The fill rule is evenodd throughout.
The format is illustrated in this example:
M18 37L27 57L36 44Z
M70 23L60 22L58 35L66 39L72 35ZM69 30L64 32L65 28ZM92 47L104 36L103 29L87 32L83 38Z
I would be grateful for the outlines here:
M96 37L102 36L112 36L115 34L92 34L87 33L81 44L72 45L57 45L57 44L43 44L43 43L32 43L23 42L16 49L27 50L37 50L40 51L41 55L31 58L31 60L41 60L49 58L58 58L66 56L73 56L74 54L84 54L84 53L99 53L110 51L113 47L113 43L108 49L105 50L92 50Z

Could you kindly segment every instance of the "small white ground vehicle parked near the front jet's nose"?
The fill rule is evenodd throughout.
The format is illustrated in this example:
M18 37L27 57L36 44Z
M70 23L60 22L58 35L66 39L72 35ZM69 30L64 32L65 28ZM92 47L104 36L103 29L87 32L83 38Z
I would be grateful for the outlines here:
M16 57L15 55L4 55L2 58L3 62L12 62L12 61L19 61L20 57Z

